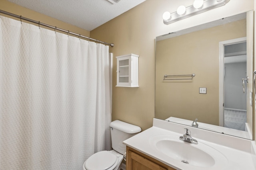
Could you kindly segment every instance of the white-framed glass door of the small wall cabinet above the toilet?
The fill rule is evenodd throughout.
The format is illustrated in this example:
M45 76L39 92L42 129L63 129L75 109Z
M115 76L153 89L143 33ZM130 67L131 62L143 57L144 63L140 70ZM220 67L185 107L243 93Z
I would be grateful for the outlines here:
M122 57L117 60L117 86L130 86L131 57Z

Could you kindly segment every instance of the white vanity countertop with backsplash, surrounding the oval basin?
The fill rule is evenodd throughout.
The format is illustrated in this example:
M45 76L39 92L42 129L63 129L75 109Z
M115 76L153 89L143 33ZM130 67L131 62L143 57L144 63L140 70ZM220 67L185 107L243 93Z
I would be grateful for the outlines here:
M216 170L216 166L193 166L170 158L150 143L152 137L160 134L176 135L178 138L183 135L184 128L188 127L178 123L154 119L153 127L125 140L123 143L177 170ZM188 129L191 131L191 136L198 140L198 143L203 143L218 150L227 158L228 161L223 166L218 167L218 170L256 170L255 141L194 127L189 127Z

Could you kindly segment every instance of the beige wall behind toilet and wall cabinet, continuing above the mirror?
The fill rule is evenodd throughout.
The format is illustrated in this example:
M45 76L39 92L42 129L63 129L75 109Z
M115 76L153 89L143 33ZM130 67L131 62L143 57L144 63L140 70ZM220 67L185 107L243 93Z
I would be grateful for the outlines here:
M138 88L116 85L116 59L113 64L112 120L120 119L142 127L152 126L155 90L155 37L175 32L223 17L253 10L254 0L231 0L223 7L204 12L170 25L164 25L162 14L173 12L180 5L189 6L193 0L146 0L135 8L92 30L96 39L114 43L115 56L134 53L139 57Z

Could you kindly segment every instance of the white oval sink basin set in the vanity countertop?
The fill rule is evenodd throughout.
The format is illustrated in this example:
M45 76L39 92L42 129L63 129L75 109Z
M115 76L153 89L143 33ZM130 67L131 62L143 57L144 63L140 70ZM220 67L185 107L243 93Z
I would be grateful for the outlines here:
M181 141L176 135L155 135L150 138L150 144L162 154L190 166L217 168L228 163L218 150L200 141L198 144Z

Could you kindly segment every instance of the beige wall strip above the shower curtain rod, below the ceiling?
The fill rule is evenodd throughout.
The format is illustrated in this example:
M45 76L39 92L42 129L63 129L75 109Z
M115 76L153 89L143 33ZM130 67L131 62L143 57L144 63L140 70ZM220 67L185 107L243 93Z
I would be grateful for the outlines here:
M86 37L90 36L90 31L87 31L85 29L76 27L74 25L65 23L63 21L60 20L56 20L54 18L48 17L46 15L40 14L38 12L35 12L33 10L29 10L28 8L24 8L22 6L18 6L14 3L8 2L7 0L0 0L0 10L6 11L6 12L10 12L13 14L16 14L18 16L22 16L25 18L29 18L35 21L40 21L41 23L46 23L48 25L52 25L54 27L58 27L61 29L65 29L68 30L70 32L74 32L74 33L78 33L81 35L84 35ZM6 16L4 14L0 14L1 16ZM10 17L10 16L7 16ZM10 17L12 18L12 17ZM14 18L15 20L19 20L17 18ZM24 21L23 22L27 22ZM40 27L43 27L42 25L40 25Z

